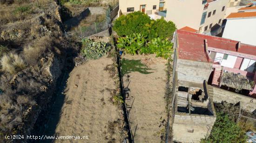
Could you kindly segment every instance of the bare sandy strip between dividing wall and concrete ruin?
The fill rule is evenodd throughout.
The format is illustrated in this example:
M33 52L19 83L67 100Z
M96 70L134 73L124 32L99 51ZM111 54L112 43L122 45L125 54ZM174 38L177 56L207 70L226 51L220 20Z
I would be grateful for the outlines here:
M167 60L156 58L155 55L125 55L126 59L141 59L141 62L148 65L150 74L131 72L128 75L130 84L129 98L126 103L131 106L129 120L131 130L135 134L135 143L161 143L162 133L165 131L163 124L166 124L166 101L164 99L166 84ZM123 77L124 87L127 87L127 77ZM137 129L135 131L137 125Z

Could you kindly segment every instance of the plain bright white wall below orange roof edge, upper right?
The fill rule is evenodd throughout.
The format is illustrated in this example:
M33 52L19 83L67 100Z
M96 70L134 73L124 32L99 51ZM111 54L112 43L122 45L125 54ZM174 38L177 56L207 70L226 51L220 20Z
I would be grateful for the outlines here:
M256 18L228 19L222 37L256 46Z

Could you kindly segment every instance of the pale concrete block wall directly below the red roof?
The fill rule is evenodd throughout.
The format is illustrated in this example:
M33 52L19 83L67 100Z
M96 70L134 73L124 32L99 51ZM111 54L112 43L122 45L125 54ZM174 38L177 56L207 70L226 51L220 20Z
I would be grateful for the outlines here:
M211 70L212 63L209 62L177 60L176 71L178 72L178 81L203 83L204 80L209 79Z

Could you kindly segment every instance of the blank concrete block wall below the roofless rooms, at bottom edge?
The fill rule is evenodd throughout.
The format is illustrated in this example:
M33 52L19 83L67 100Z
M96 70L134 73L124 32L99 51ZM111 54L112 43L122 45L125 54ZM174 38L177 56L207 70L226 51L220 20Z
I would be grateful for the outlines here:
M174 141L199 143L201 138L209 135L215 120L215 116L176 113L173 123Z

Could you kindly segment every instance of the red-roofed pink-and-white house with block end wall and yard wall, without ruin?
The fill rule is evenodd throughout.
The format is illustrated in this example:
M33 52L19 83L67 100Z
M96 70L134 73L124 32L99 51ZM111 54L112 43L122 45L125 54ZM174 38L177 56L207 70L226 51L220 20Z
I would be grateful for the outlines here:
M174 46L180 79L206 80L214 102L240 102L243 110L256 110L256 46L180 30L175 33Z

